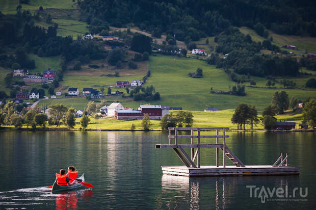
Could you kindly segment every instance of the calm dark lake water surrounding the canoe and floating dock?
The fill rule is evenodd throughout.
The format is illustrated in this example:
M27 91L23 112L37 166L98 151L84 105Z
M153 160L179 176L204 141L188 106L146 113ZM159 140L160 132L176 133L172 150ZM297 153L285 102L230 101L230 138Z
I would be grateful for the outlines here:
M300 175L162 175L162 165L183 165L172 149L154 148L168 143L164 132L1 132L0 209L315 208L315 133L227 134L228 147L245 165L272 165L287 152L289 165L301 167ZM215 163L215 149L201 149L201 165ZM46 187L55 173L71 165L78 175L85 172L94 188L51 194ZM246 186L288 189L288 195L308 188L308 194L301 197L298 190L295 199L285 200L274 192L262 203Z

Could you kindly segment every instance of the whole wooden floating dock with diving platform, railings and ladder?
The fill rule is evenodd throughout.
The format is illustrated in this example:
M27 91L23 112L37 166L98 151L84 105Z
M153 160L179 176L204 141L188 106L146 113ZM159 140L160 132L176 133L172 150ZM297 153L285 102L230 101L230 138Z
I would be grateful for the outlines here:
M174 176L233 176L233 175L298 175L299 167L288 165L288 154L279 156L273 165L244 165L239 158L227 147L225 139L228 138L225 130L228 127L169 127L168 144L156 144L155 148L172 148L185 166L162 166L163 174ZM174 130L174 135L171 135ZM178 135L179 130L191 130L191 135ZM200 135L201 130L216 130L216 135ZM219 131L223 130L223 135ZM194 135L197 131L197 135ZM191 138L191 144L178 144L178 138ZM215 144L200 144L200 138L216 138ZM223 139L219 143L219 138ZM174 139L174 144L171 144ZM194 143L197 139L197 143ZM191 148L191 156L183 148ZM200 165L200 149L216 148L216 166ZM196 150L195 150L196 149ZM222 150L223 165L219 165L219 149ZM194 151L195 150L195 151ZM234 166L226 166L226 157Z

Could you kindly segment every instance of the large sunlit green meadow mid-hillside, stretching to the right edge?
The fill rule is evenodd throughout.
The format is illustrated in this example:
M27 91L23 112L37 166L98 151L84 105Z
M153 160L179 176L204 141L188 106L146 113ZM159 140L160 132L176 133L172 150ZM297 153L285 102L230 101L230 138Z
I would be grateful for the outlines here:
M161 93L162 100L151 101L165 106L182 107L185 110L204 110L207 107L216 107L221 110L234 109L239 103L248 103L263 110L270 103L275 91L284 89L249 88L246 87L246 96L233 96L223 94L210 94L213 90L228 91L229 86L235 85L221 69L207 65L206 62L176 58L168 56L150 57L151 77L146 85L153 85ZM203 78L191 78L189 72L197 67L203 69ZM267 80L254 77L255 82L265 86ZM260 84L261 83L261 84ZM308 96L315 97L315 90L286 89L289 97L295 96L301 100Z

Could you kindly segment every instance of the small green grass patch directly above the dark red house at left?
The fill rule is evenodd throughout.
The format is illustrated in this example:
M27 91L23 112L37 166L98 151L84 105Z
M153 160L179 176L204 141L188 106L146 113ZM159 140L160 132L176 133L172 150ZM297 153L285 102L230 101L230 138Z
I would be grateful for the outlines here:
M59 67L59 56L54 56L54 57L38 57L37 55L30 54L29 55L30 59L35 60L35 69L29 70L30 74L33 73L43 73L43 70L57 70L60 69Z

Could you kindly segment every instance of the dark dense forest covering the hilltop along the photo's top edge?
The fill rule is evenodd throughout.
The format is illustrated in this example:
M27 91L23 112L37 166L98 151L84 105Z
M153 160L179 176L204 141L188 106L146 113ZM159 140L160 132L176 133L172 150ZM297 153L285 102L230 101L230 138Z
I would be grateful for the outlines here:
M313 1L85 0L80 9L82 18L93 25L93 30L133 22L154 37L166 32L180 41L214 36L230 25L246 25L264 37L266 29L280 34L316 36Z

